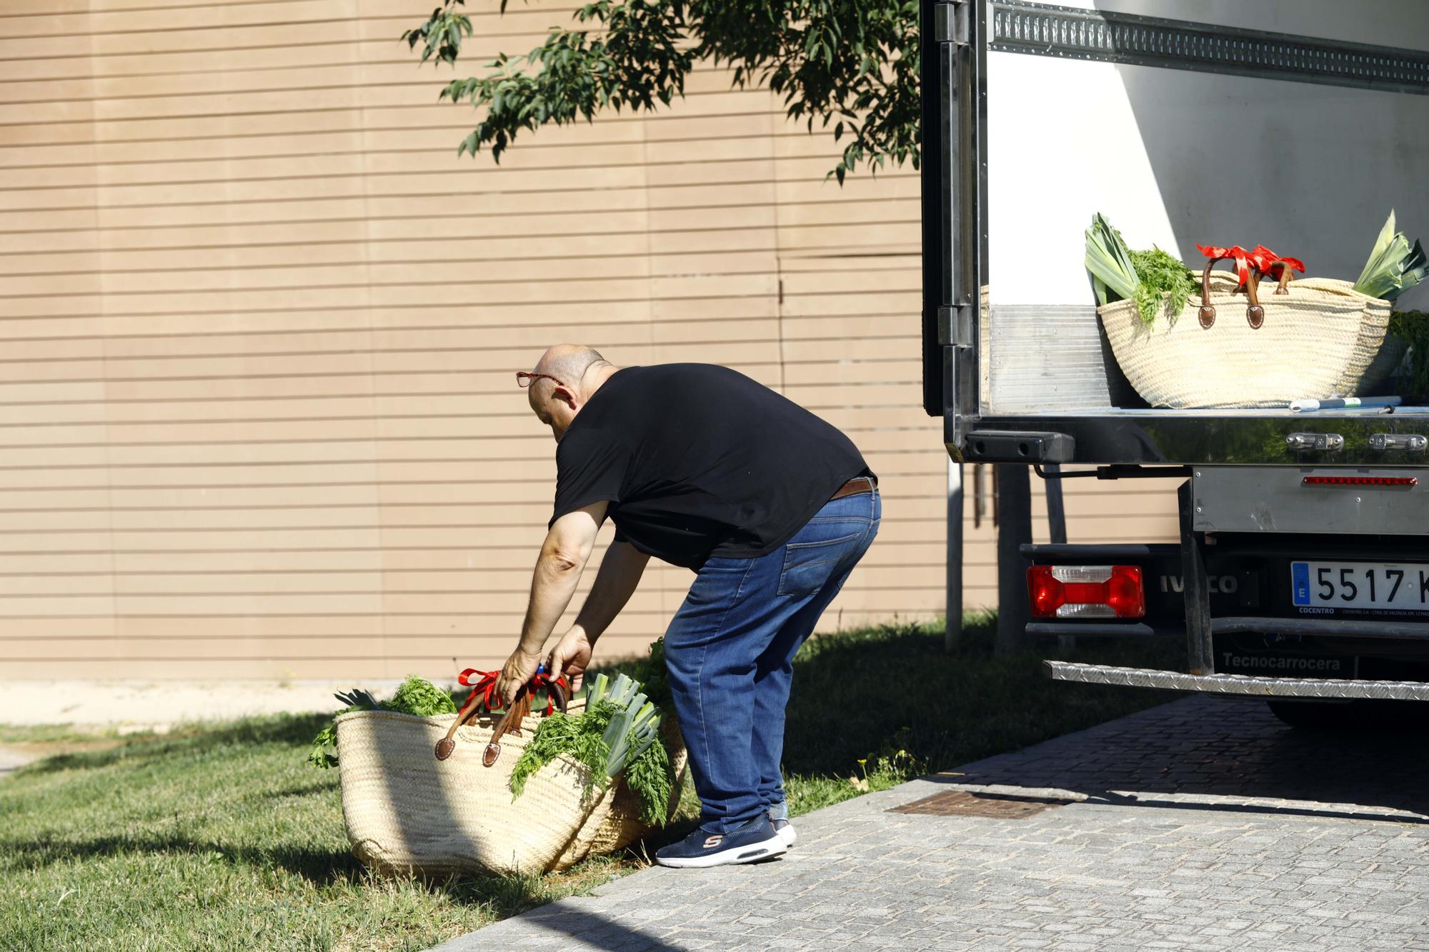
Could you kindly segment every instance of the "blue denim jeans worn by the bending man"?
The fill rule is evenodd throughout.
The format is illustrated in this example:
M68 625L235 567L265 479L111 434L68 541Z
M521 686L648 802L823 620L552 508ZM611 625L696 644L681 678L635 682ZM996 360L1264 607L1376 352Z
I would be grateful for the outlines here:
M753 559L710 559L664 632L664 660L700 825L710 832L785 800L779 772L795 652L879 530L877 490L825 503Z

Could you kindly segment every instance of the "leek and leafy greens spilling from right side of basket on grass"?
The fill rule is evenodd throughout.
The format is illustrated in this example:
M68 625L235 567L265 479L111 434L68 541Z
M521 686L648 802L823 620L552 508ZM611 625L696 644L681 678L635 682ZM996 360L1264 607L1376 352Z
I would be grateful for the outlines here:
M569 755L590 769L592 788L606 789L623 772L626 783L640 798L640 819L663 823L673 788L670 753L660 742L659 729L660 716L640 693L640 682L626 675L613 682L597 675L586 689L584 712L542 719L512 768L512 799L526 790L526 782L537 770Z

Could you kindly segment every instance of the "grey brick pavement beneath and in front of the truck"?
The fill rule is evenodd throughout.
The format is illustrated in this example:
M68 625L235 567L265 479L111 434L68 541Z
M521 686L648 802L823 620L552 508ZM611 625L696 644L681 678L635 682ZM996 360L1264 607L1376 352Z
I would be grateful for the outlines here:
M440 949L1429 949L1426 783L1422 733L1193 696L800 818L780 859L647 869ZM887 812L949 789L1075 802Z

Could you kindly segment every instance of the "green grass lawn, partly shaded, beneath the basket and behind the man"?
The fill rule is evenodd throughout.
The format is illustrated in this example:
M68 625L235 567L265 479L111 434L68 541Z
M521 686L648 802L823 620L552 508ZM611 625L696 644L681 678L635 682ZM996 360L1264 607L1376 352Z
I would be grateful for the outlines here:
M1180 642L1089 639L1069 658L1179 669L1182 655ZM785 746L793 813L1173 698L1047 682L1040 656L993 658L986 619L956 655L935 628L810 640ZM627 853L550 876L373 879L349 852L337 772L304 760L323 720L254 718L106 749L0 726L0 742L71 749L0 782L0 949L427 949L644 865ZM687 832L694 810L687 790L682 823L646 849Z

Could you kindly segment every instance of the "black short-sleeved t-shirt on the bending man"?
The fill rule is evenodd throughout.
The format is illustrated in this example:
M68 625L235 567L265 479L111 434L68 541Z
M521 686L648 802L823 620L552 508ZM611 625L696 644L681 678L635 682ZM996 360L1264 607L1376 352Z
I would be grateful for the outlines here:
M707 363L623 367L556 447L552 523L609 500L616 540L699 569L773 552L855 476L847 436L745 375Z

